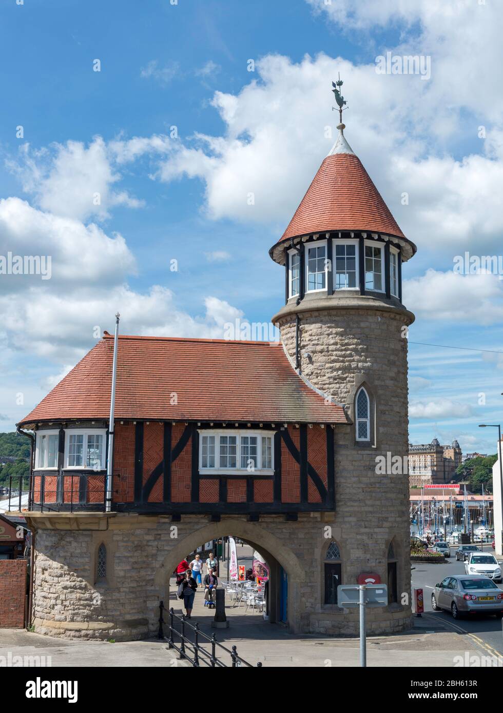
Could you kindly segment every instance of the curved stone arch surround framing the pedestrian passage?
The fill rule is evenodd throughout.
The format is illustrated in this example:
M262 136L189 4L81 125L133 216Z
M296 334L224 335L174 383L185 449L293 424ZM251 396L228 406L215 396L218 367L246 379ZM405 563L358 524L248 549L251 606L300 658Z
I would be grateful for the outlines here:
M275 602L278 602L279 598L279 565L285 570L288 575L288 631L297 633L300 622L300 585L305 582L305 570L290 547L257 523L249 523L238 519L225 519L218 523L206 523L197 529L191 530L190 533L179 540L177 538L176 545L163 558L163 563L156 571L154 578L154 583L161 593L161 598L166 597L168 599L169 580L173 570L187 553L193 552L201 543L228 535L234 535L248 543L248 545L252 545L268 561L271 568L271 586L273 588L270 592L270 597ZM277 618L277 615L273 615L271 622Z

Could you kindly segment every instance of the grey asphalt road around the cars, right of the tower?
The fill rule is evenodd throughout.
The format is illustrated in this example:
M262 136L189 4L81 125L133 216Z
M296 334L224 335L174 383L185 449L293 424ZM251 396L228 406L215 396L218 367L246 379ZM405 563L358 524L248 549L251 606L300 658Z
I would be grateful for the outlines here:
M484 548L485 549L485 548ZM454 548L451 548L454 555ZM462 630L482 640L493 652L503 655L503 621L501 617L489 615L476 615L454 621L448 612L433 612L432 592L435 584L441 582L449 575L464 574L464 564L457 562L452 556L442 565L414 563L412 566L412 588L422 587L425 600L425 613L430 617L441 620L452 630ZM503 589L503 585L497 585Z

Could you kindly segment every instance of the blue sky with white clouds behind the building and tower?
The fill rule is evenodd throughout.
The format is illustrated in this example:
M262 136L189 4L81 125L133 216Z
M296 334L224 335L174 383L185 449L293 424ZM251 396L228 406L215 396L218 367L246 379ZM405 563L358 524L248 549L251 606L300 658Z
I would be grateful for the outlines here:
M0 275L0 431L117 310L123 334L271 319L268 250L333 143L340 73L346 138L418 248L410 441L496 452L503 275L477 259L502 262L502 24L497 0L2 0L0 256L51 277Z

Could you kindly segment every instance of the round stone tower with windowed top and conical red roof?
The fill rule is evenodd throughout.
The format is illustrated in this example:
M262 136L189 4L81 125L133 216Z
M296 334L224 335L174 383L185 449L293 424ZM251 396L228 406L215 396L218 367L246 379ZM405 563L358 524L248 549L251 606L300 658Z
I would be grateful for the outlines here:
M273 322L298 374L342 405L352 422L335 434L332 535L342 583L372 572L388 584L390 606L370 612L370 629L385 632L410 625L409 483L402 466L407 327L415 318L402 304L402 263L416 247L344 128L337 126L335 145L270 250L286 273L285 306ZM340 630L348 631L347 624Z

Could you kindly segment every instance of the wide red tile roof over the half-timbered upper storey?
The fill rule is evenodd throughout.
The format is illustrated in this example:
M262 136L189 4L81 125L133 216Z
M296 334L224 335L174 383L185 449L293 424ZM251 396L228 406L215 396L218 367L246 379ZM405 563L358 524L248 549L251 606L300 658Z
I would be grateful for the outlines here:
M21 424L108 419L112 357L106 334ZM342 406L300 379L281 344L172 337L119 337L115 417L347 423Z

